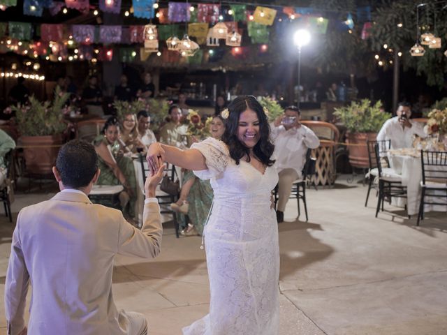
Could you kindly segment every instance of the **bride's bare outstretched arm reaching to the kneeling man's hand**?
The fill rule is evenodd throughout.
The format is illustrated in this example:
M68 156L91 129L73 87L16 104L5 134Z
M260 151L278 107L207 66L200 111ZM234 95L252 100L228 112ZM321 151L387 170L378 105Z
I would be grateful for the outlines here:
M197 149L178 149L160 142L152 143L146 156L149 170L158 171L164 162L185 168L187 170L206 170L205 157Z

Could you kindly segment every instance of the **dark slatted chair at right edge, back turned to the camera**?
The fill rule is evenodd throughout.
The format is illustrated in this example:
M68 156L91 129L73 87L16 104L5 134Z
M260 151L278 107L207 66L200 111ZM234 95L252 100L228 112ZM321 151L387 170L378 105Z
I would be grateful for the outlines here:
M419 221L424 219L425 204L442 205L447 208L447 152L421 150L420 161L422 164L422 181L420 182L422 193L416 225L419 225ZM426 201L425 197L444 198L444 201Z

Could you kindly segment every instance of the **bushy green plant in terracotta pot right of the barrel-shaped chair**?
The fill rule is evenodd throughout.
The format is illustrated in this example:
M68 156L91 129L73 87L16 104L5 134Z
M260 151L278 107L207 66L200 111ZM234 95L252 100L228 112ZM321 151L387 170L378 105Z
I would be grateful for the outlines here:
M367 140L376 140L377 133L391 114L383 111L381 101L372 104L369 99L362 99L335 108L334 115L346 126L349 163L354 168L368 168Z

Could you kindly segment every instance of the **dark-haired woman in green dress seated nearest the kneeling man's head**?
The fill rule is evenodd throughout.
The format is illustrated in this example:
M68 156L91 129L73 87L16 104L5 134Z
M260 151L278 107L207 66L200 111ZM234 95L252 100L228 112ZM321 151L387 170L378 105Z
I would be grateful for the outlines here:
M96 184L124 186L124 191L119 193L119 201L126 218L133 220L137 194L135 170L131 158L124 156L125 150L119 144L119 121L116 117L105 121L102 135L98 135L93 144L98 154L98 168L101 169Z

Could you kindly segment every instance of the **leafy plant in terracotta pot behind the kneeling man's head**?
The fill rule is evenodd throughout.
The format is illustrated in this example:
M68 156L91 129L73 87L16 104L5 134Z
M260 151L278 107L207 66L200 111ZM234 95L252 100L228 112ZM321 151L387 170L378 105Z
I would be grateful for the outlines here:
M28 172L50 174L56 163L57 152L62 144L62 133L66 130L64 105L70 94L59 87L54 91L52 102L41 103L34 96L28 103L11 106L15 111L19 142L24 147L24 158Z

